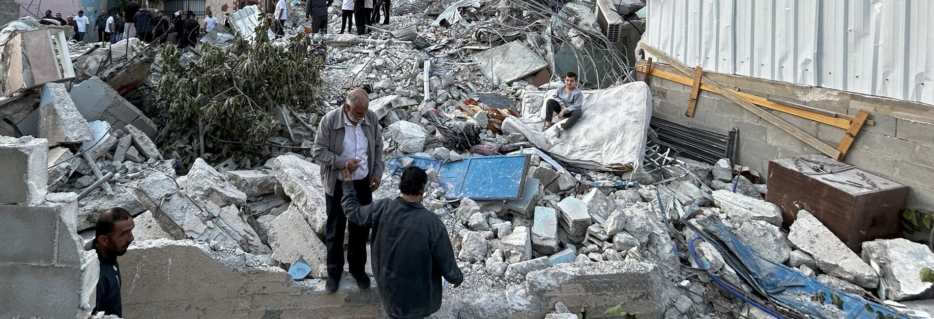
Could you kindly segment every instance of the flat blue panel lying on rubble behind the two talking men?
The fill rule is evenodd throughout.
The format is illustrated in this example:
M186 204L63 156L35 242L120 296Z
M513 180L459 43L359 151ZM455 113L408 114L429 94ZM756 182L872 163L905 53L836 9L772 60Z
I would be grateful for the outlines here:
M408 159L412 160L411 164L407 163ZM386 161L386 169L396 174L401 174L407 165L438 172L446 199L512 200L522 197L529 156L482 156L444 162L404 155Z

